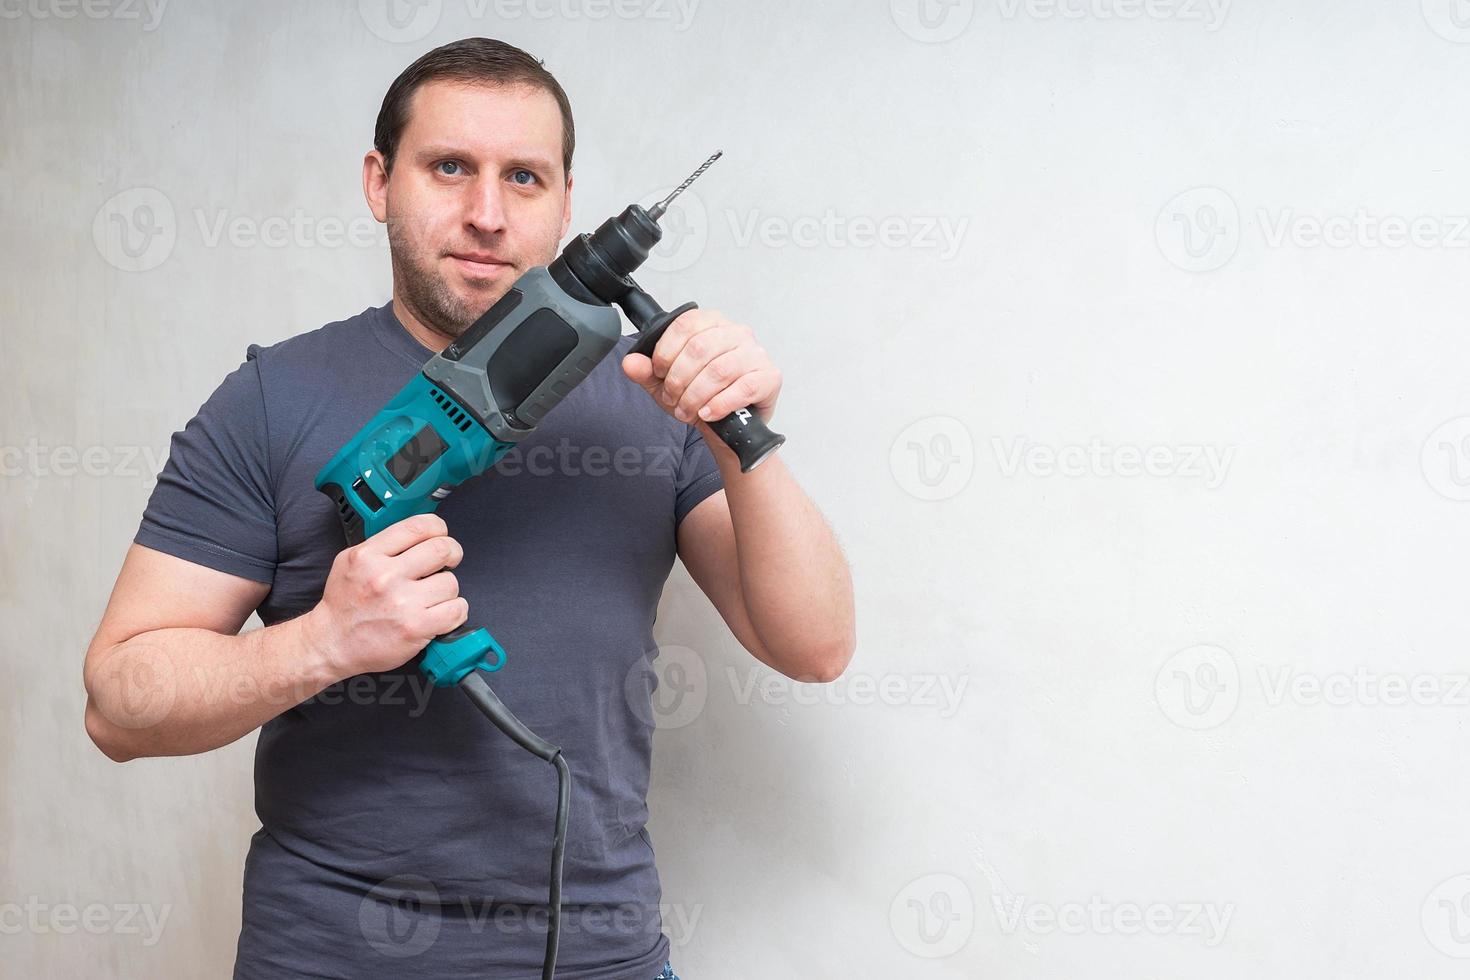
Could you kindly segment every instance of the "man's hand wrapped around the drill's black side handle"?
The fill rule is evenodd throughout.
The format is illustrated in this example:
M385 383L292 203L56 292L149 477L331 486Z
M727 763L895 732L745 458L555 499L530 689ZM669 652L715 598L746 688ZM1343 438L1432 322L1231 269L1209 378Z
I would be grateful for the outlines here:
M717 310L689 310L659 338L653 359L623 357L623 373L679 422L713 422L747 406L770 422L781 372L756 334ZM700 426L707 432L706 426Z

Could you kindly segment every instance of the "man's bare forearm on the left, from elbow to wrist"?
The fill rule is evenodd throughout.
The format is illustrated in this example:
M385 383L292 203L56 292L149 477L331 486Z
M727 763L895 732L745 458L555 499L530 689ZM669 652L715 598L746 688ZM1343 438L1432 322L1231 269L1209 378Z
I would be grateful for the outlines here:
M119 763L229 745L341 679L309 617L237 636L157 629L101 651L85 677L88 735Z

